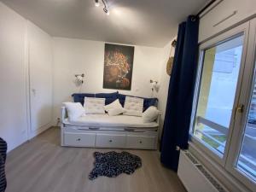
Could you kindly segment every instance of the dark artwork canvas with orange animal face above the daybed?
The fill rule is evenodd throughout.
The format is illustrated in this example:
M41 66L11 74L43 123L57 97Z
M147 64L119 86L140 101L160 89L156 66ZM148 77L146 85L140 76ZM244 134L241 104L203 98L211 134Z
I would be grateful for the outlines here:
M103 88L131 90L134 47L105 44Z

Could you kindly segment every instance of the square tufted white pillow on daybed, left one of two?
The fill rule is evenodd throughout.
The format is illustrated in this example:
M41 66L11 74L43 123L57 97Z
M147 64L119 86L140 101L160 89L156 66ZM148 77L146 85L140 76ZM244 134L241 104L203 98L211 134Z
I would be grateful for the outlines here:
M86 114L104 114L105 98L84 97Z

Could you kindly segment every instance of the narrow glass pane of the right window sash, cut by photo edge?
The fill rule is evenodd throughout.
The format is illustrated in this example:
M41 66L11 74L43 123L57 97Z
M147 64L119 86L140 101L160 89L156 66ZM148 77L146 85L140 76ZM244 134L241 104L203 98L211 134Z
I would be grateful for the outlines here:
M244 132L237 167L256 181L256 82L253 84L247 125Z

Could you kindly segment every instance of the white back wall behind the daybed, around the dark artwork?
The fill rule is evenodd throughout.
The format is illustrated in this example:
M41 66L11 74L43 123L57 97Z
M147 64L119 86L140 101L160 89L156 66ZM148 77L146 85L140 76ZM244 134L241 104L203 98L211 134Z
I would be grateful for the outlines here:
M104 42L69 38L54 38L54 108L55 119L60 117L61 103L71 101L79 92L73 83L74 74L84 73L81 92L113 92L103 84ZM152 96L150 79L160 81L160 48L135 46L131 90L119 90L133 96Z

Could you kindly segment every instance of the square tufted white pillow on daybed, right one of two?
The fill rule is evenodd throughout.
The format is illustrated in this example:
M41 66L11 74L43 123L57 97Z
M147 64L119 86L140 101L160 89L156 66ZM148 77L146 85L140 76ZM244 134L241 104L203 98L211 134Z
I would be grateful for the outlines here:
M125 115L143 116L143 102L142 98L125 96Z

